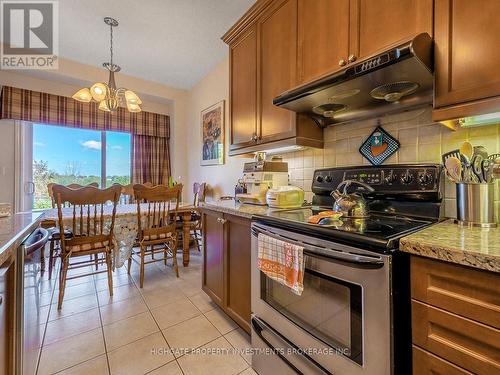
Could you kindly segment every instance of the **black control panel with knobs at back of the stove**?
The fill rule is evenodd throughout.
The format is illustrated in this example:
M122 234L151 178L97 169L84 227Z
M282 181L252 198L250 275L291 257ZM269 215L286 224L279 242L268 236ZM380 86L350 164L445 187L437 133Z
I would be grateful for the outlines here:
M343 167L315 171L313 192L333 191L345 180L370 185L380 193L439 192L442 168L438 164ZM352 185L351 190L363 191ZM366 190L366 189L365 189Z

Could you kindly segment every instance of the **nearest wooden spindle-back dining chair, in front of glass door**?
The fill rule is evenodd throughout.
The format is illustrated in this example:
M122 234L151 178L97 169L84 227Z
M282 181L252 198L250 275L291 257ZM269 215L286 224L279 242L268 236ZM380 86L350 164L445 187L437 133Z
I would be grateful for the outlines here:
M64 299L66 280L107 272L109 295L113 295L113 277L111 275L111 252L113 250L113 229L115 225L116 206L120 198L120 187L111 186L100 190L93 186L70 189L63 185L52 188L57 204L58 221L61 235L61 266L59 273L60 309ZM112 206L108 205L112 203ZM65 238L63 209L69 204L71 211L71 231L73 236ZM111 211L111 212L110 212ZM66 211L67 212L67 211ZM99 263L106 263L106 270L89 272L68 277L68 270L87 267L94 261L70 260L78 257L94 256ZM99 258L99 256L102 256Z

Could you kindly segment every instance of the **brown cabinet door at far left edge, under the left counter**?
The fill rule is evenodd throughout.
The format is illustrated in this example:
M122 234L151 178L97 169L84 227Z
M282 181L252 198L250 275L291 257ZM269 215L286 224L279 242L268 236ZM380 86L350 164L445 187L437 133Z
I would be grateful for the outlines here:
M14 373L15 262L0 265L0 375Z

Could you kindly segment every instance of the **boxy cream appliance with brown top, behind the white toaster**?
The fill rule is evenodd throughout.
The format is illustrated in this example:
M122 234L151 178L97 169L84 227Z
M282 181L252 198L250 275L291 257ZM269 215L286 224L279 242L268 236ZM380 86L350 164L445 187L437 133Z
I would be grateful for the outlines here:
M236 194L236 199L264 206L269 189L288 185L288 163L266 160L245 163L243 183L247 192Z

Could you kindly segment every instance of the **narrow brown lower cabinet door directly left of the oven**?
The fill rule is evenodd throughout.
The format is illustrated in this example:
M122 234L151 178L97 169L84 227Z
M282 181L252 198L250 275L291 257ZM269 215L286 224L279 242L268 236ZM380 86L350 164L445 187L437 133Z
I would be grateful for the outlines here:
M250 219L226 219L226 311L250 333Z

